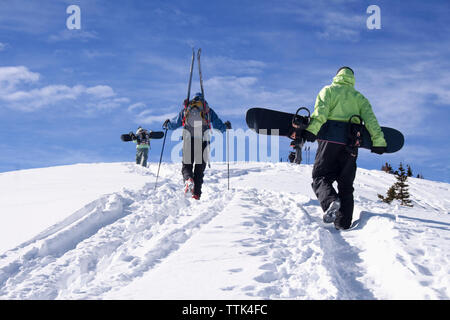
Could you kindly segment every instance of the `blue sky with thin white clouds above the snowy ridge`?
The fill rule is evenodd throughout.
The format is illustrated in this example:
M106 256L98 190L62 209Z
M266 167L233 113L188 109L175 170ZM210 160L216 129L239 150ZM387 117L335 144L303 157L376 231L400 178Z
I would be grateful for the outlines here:
M66 27L72 4L81 30ZM379 30L366 26L372 4ZM449 12L448 1L2 0L0 172L132 161L120 134L159 130L180 110L191 47L201 47L206 98L234 128L254 106L312 109L349 65L380 124L406 136L395 154L363 150L359 166L403 161L450 182ZM286 158L289 141L280 144Z

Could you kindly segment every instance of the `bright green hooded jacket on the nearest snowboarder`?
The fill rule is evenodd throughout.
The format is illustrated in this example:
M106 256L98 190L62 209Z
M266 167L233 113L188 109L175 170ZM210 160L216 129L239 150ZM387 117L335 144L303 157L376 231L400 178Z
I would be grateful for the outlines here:
M327 120L347 122L352 115L360 115L366 124L375 147L385 147L383 131L372 111L369 101L355 90L355 77L348 69L342 69L333 83L320 90L307 130L317 135ZM354 122L358 122L353 118Z

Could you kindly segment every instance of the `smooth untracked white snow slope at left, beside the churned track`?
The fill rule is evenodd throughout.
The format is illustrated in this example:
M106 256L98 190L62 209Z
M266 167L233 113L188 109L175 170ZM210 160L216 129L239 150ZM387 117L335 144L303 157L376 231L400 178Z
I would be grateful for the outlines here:
M0 173L0 252L51 227L105 193L140 189L148 172L134 165L77 164ZM26 222L26 223L25 223Z

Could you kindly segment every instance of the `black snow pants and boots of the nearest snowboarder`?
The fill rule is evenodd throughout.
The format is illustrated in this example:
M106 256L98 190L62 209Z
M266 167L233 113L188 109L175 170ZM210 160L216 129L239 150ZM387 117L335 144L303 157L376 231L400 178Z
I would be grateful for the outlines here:
M350 228L353 217L353 181L356 175L358 150L349 150L345 145L318 141L313 168L312 188L325 212L331 203L339 199L341 208L334 224ZM338 192L333 188L337 182Z

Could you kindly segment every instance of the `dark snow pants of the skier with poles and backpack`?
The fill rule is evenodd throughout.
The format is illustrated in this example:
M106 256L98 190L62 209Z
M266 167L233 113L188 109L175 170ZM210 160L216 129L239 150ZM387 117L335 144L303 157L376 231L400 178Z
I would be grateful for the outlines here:
M208 146L207 141L200 141L196 139L189 139L189 142L185 142L184 148L190 147L190 152L183 149L183 165L181 168L181 173L183 174L184 181L188 179L194 180L194 194L201 196L203 176L206 169L206 161L203 157L206 147ZM201 144L201 148L195 148L195 142ZM197 149L197 150L196 150ZM200 156L199 151L201 150L202 155Z

